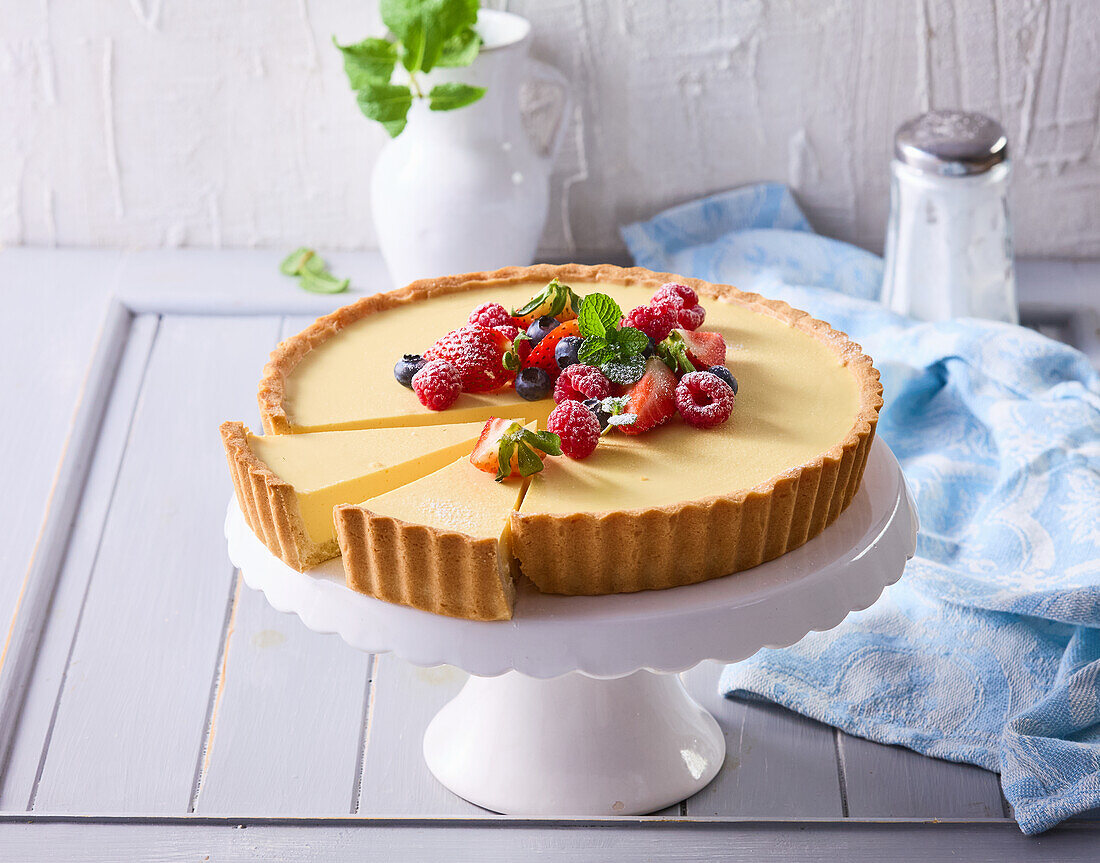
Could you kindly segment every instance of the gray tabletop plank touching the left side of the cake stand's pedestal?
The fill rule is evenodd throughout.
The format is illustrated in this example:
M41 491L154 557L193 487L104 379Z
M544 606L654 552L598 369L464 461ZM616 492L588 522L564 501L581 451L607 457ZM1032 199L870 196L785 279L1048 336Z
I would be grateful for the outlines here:
M358 811L371 816L484 815L439 784L422 754L424 731L453 698L465 672L419 668L391 654L376 657Z

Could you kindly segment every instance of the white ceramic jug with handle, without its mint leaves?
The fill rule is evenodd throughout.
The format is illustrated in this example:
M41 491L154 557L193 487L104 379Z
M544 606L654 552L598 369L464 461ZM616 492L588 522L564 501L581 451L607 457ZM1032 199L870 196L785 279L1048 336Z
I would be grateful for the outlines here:
M561 73L528 57L530 31L519 15L481 10L477 59L465 68L433 69L420 86L427 92L436 84L463 81L485 87L485 96L453 111L431 111L427 100L415 99L405 131L383 147L371 208L396 286L535 259L570 98ZM550 84L563 95L557 129L542 150L520 114L520 88L528 81Z

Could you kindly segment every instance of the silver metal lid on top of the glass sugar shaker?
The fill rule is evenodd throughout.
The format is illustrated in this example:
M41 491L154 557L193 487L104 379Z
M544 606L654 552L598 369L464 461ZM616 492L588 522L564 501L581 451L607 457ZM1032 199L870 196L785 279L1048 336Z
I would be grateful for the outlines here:
M894 135L900 162L944 177L983 174L1008 155L1004 130L985 114L930 111L906 120Z

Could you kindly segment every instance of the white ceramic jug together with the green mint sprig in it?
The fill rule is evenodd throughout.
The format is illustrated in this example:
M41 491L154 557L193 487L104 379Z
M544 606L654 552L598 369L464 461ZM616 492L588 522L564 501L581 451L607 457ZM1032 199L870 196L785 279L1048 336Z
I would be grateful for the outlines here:
M338 47L360 109L391 136L371 209L395 285L531 263L569 117L564 77L527 56L526 19L477 0L382 0L381 11L386 37ZM520 115L527 81L563 93L543 147Z

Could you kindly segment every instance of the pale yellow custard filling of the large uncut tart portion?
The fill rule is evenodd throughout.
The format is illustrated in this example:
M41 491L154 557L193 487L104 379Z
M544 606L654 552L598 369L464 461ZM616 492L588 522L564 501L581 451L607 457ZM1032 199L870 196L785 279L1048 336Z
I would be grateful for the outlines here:
M508 389L463 395L453 408L432 412L391 374L402 353L426 350L460 327L475 306L495 301L516 307L542 287L530 283L460 291L367 316L310 351L290 373L285 403L292 425L409 427L498 416L537 419L544 427L552 400L526 402ZM624 311L652 296L648 287L572 287L582 296L608 294ZM723 334L726 365L739 383L730 420L701 431L674 419L637 438L608 434L582 462L548 458L546 469L534 477L522 512L632 509L728 495L796 468L844 440L858 411L859 391L855 376L826 344L744 306L708 297L701 302L707 311L702 329ZM470 480L475 487L485 480L496 485L477 471Z

